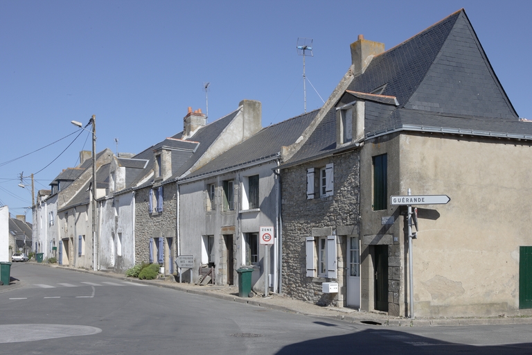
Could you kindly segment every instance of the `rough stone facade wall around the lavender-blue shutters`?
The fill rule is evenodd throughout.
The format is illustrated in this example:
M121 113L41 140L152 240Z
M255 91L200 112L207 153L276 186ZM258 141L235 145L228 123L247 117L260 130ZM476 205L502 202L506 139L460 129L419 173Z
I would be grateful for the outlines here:
M143 261L148 263L150 238L158 238L159 236L174 239L170 252L175 256L176 184L163 185L163 211L160 213L155 209L157 205L155 199L153 200L153 213L148 213L148 193L150 193L151 189L152 187L146 187L145 189L137 190L135 193L135 263ZM154 245L155 249L156 246ZM167 255L165 254L166 259Z

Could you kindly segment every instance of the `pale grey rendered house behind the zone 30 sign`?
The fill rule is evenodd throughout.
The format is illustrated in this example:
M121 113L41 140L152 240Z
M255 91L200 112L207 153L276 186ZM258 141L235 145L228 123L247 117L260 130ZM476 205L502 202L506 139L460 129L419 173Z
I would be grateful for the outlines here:
M274 169L281 147L293 144L316 114L269 125L178 180L181 254L195 262L185 280L196 282L213 268L215 284L238 284L236 270L245 267L254 269L255 292L278 292L281 191ZM260 245L260 227L274 227L273 245Z

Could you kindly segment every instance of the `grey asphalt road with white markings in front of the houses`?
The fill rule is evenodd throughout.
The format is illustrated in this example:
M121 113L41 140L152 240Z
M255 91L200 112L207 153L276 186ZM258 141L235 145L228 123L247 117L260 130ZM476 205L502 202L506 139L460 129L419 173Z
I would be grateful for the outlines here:
M390 328L29 263L11 275L0 354L532 354L532 325Z

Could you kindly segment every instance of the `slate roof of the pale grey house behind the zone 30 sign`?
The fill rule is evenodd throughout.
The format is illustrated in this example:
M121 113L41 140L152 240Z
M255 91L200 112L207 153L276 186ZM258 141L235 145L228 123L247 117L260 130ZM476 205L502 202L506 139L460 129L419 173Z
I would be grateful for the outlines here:
M227 171L254 162L276 157L281 146L290 146L301 137L303 130L316 117L319 110L308 112L286 121L269 125L253 137L222 153L208 164L198 168L179 181L192 180L202 175Z

